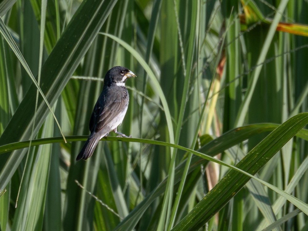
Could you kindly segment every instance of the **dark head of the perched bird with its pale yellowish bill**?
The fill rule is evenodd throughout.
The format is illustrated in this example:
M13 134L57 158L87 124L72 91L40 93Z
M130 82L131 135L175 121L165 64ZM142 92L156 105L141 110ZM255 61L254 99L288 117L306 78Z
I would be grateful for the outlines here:
M115 83L117 86L124 86L125 82L130 77L135 77L136 75L125 67L112 67L106 74L104 83L110 85Z

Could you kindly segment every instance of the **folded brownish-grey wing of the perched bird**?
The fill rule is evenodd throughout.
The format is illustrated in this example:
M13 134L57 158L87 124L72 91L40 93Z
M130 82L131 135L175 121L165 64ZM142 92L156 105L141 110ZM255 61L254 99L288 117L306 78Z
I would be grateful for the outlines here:
M107 99L108 98L108 99ZM90 119L90 131L99 132L106 127L128 105L128 91L114 92L112 95L102 95L95 104Z

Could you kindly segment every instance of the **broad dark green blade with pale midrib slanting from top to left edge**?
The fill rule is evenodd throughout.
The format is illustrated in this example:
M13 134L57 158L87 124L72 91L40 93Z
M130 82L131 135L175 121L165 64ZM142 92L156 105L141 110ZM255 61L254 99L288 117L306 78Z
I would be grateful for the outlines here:
M42 68L44 78L41 81L41 86L43 86L41 88L51 105L58 99L65 84L79 65L95 35L111 12L115 2L95 2L93 4L91 1L84 1L76 12L75 17L71 20L67 30L62 34L57 45L47 58ZM84 15L91 15L91 17ZM79 22L79 17L84 17L87 20L84 20L82 24L74 23ZM10 37L9 34L7 36ZM72 37L75 39L71 39ZM63 50L63 47L66 47L66 49ZM12 137L15 141L26 140L29 137L31 131L29 128L34 118L36 95L33 92L35 91L36 87L33 84L6 127L4 135L2 134L0 137L0 144L8 143L8 140L12 140ZM41 98L39 98L37 108L37 123L35 124L34 134L38 132L48 113L48 107ZM23 123L17 124L15 121L23 121ZM21 162L25 151L19 150L13 152L10 156L5 155L5 159L0 163L0 188L4 188L8 183Z

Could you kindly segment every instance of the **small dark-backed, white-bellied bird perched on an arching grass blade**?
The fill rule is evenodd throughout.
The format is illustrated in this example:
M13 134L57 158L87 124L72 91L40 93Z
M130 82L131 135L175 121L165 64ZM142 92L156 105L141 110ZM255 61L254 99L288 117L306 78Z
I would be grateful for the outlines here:
M129 95L125 82L136 75L125 67L112 67L104 78L103 91L97 99L91 119L91 135L80 150L76 160L87 160L92 156L99 140L108 136L113 131L123 137L126 136L117 132L117 127L122 124L128 107Z

